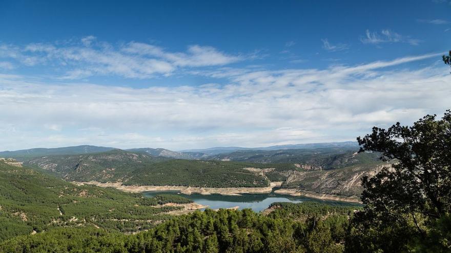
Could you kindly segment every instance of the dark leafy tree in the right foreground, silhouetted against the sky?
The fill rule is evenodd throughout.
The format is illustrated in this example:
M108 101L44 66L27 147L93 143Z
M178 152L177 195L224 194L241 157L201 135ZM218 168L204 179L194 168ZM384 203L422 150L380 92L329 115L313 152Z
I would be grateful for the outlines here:
M441 119L427 115L411 127L374 127L357 141L360 152L380 152L393 165L362 179L365 208L353 219L348 251L360 244L360 251L408 251L425 244L449 251L449 233L432 232L447 224L451 211L451 111ZM368 234L376 239L368 240Z

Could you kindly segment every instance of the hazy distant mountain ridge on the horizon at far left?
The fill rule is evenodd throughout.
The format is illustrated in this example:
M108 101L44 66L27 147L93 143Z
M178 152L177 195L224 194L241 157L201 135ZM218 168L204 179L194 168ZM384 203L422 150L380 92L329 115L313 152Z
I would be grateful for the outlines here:
M97 147L90 145L81 145L74 147L62 147L62 148L32 148L16 151L3 151L0 152L0 157L12 157L17 160L26 160L39 156L47 155L75 155L75 154L87 154L98 153L113 150L109 147Z

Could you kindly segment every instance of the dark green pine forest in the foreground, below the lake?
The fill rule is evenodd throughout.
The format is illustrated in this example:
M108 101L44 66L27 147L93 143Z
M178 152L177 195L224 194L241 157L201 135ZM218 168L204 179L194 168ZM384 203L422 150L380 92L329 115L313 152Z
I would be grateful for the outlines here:
M353 208L313 202L274 204L268 215L251 210L207 210L173 218L126 236L99 229L64 228L0 244L0 250L52 252L341 252ZM70 240L69 240L70 239Z

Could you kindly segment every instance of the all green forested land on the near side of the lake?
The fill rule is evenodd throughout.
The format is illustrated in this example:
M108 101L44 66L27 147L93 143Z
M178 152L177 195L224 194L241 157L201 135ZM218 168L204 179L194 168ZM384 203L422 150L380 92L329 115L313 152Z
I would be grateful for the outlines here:
M166 203L189 202L173 195L144 198L76 186L0 162L0 252L285 252L318 243L336 252L343 248L343 232L355 209L275 203L265 214L221 210L169 215L182 206ZM330 227L332 233L327 232Z

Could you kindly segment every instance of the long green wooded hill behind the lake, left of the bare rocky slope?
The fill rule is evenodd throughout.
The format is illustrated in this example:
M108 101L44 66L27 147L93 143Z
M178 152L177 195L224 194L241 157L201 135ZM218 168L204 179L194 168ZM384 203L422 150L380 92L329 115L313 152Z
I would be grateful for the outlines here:
M245 170L253 164L201 160L170 160L145 153L113 150L105 153L45 156L25 166L39 168L69 181L122 182L124 185L195 187L267 187L262 175ZM267 167L267 165L262 166ZM292 165L294 168L294 166Z

